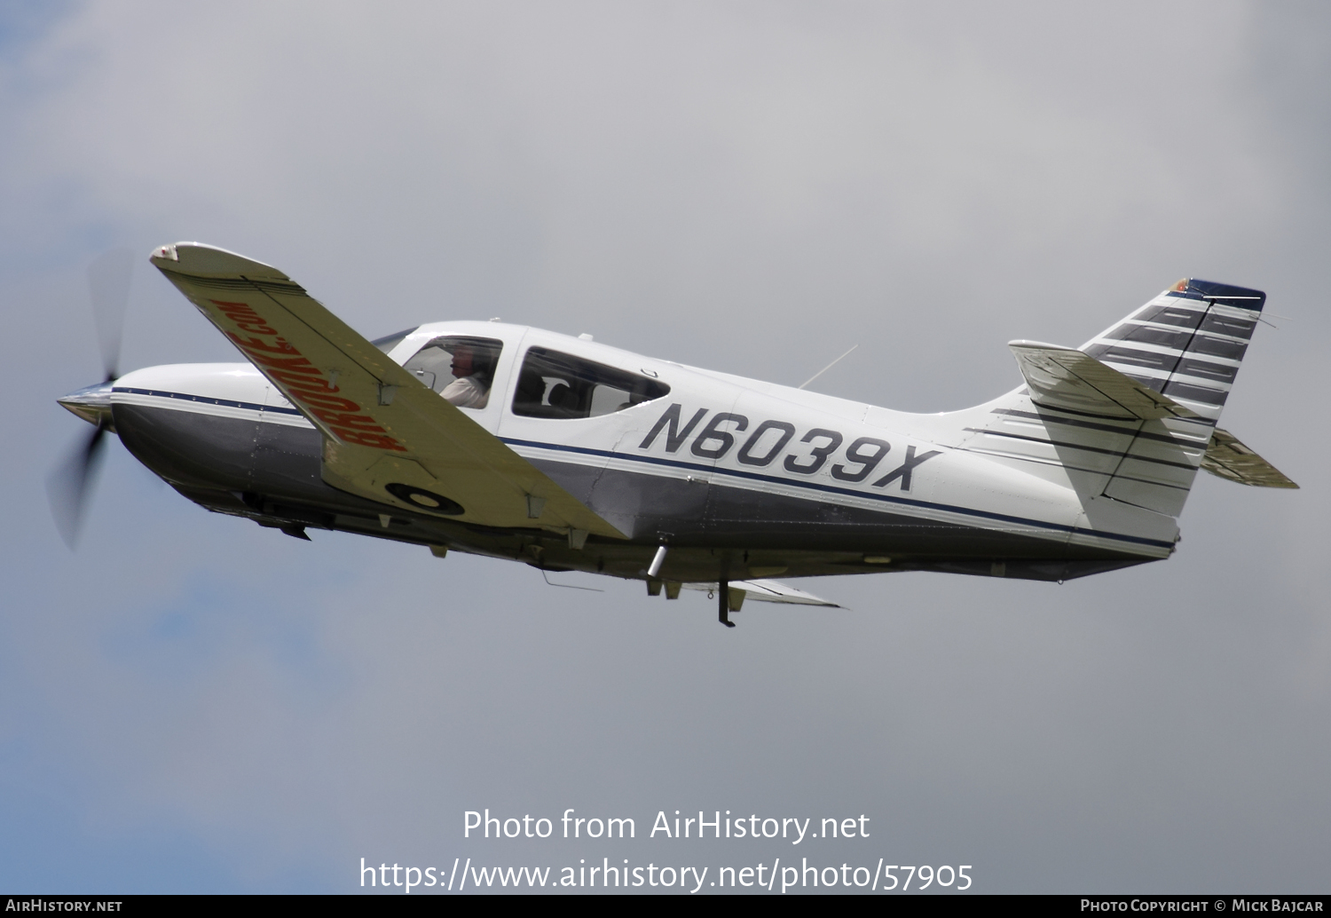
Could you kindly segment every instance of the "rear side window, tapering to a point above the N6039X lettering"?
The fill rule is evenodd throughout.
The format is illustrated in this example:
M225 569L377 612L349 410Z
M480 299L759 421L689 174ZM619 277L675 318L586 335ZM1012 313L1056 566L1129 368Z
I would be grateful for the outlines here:
M512 413L523 417L599 417L660 398L669 386L547 348L531 348L522 361Z

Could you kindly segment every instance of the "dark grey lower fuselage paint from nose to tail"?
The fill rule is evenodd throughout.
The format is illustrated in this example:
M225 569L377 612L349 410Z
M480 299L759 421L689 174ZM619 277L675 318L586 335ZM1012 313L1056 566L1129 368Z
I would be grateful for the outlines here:
M413 514L323 482L322 438L310 428L265 424L141 405L114 406L129 452L202 506L284 522L526 561L534 566L644 577L662 541L696 580L720 570L743 577L781 564L787 576L874 573L865 553L893 556L893 570L945 570L1029 580L1069 580L1142 564L1105 549L1057 540L921 521L900 513L689 482L575 462L534 460L574 497L630 534L592 538L583 550L542 530L494 530ZM379 524L389 514L391 525ZM534 550L538 549L539 550Z

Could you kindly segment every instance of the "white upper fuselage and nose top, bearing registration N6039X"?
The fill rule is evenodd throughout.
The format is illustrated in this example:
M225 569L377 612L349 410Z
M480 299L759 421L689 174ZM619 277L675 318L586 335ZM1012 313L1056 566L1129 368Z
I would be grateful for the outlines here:
M1020 405L1020 390L962 412L912 414L500 322L422 325L390 356L405 364L427 341L449 334L503 342L486 406L463 410L524 458L578 478L580 492L575 493L634 540L687 538L695 529L701 532L704 526L691 528L691 514L705 517L716 538L728 526L739 537L764 522L761 510L751 520L732 520L735 513L719 498L723 492L736 506L736 496L753 508L816 505L851 514L847 520L869 528L880 514L890 514L924 533L945 528L1000 541L1034 540L1047 549L1040 554L1051 558L1059 557L1059 546L1161 558L1178 537L1169 516L1078 493L1059 462L972 449L976 432L994 424L993 405ZM669 392L595 417L522 416L512 410L512 392L522 356L532 346L648 376ZM313 429L248 362L141 369L116 381L112 401ZM635 498L626 497L626 489L632 490L626 482L634 481L648 482L647 490L671 485L676 497L669 502L676 509L647 516L648 528L658 530L662 518L683 517L671 524L672 532L644 530L647 516ZM689 489L696 489L696 500L688 497ZM789 516L776 509L765 524L780 526L783 513ZM992 554L1005 557L1000 548Z

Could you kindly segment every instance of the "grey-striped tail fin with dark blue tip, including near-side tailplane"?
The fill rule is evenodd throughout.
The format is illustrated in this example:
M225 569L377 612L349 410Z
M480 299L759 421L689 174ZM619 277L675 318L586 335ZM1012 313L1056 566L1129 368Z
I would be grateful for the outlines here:
M1087 513L1109 498L1177 517L1264 302L1182 280L1078 350L1014 341L1028 385L965 448L1066 476Z

